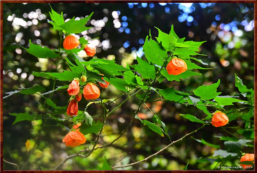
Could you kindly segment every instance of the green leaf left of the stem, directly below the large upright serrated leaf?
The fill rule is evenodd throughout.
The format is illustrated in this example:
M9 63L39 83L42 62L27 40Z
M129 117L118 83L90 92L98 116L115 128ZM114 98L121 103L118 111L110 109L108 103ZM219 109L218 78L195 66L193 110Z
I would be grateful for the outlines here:
M139 57L136 57L136 60L138 65L136 65L134 69L138 71L138 73L140 73L144 79L154 79L154 66L150 65L147 61L144 61Z

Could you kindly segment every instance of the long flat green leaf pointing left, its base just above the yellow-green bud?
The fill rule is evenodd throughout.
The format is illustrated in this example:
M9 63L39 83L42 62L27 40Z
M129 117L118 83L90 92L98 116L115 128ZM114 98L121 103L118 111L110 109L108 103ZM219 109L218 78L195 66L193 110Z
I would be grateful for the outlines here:
M75 77L80 78L82 74L82 73L76 73L76 72L66 71L66 70L63 70L63 71L64 72L62 73L45 73L45 72L41 72L41 73L48 74L52 77L56 77L60 81L71 81Z

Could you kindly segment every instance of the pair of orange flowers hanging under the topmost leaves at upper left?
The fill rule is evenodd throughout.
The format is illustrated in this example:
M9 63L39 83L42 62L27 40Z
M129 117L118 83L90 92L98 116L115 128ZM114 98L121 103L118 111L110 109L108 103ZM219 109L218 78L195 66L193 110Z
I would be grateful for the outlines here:
M64 41L63 41L63 47L66 50L71 50L71 49L75 49L79 46L79 40L72 36L72 35L68 35L65 37ZM86 54L90 57L93 57L95 55L95 49L92 47L88 47L85 44L82 44L81 47L85 47L84 51L86 52Z

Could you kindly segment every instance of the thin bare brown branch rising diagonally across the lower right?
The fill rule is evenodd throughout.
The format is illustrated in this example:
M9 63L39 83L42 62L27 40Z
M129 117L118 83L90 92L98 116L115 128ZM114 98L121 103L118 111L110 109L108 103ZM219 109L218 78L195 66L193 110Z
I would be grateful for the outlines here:
M171 142L170 144L168 144L168 145L167 145L167 146L165 146L164 148L160 149L160 150L159 150L159 151L157 151L156 153L154 153L154 154L152 154L152 155L150 155L150 156L146 157L146 158L145 158L145 159L143 159L143 160L139 160L139 161L137 161L137 162L130 163L130 164L127 164L127 165L113 166L113 167L112 167L112 169L116 169L116 168L124 168L124 167L133 166L133 165L135 165L135 164L138 164L138 163L144 162L144 161L148 160L149 158L151 158L151 157L153 157L153 156L156 156L157 154L159 154L159 153L160 153L160 152L162 152L163 150L167 149L169 146L173 145L174 143L176 143L176 142L178 142L178 141L181 141L181 140L182 140L183 138L185 138L186 136L189 136L189 135L191 135L191 134L193 134L193 133L197 132L198 130L200 130L201 128L203 128L204 126L206 126L207 124L209 124L210 122L211 122L211 120L210 120L210 121L208 121L206 124L202 125L201 127L199 127L198 129L196 129L196 130L194 130L194 131L192 131L192 132L190 132L190 133L188 133L188 134L186 134L186 135L182 136L182 137L181 137L181 138L179 138L178 140L175 140L175 141Z

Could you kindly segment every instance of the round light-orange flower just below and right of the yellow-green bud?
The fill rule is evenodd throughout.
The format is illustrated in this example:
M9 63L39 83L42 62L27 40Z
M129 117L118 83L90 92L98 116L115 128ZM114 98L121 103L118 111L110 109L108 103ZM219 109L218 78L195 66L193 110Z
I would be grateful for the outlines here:
M83 96L86 100L96 99L100 96L100 90L95 84L87 83L83 89Z

